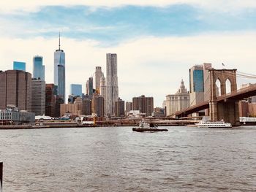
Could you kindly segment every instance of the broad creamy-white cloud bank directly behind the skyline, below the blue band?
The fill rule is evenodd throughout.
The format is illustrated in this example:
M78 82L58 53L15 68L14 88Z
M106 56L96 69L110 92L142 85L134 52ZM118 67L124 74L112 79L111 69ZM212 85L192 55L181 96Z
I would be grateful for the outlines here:
M120 45L99 47L94 40L63 37L61 48L66 53L67 94L71 83L84 85L95 66L105 72L105 54L118 55L119 96L132 101L133 96L154 96L155 106L161 106L165 96L176 93L181 78L189 88L189 67L204 62L216 69L238 69L256 74L256 32L244 34L204 34L193 37L140 37ZM26 61L32 72L32 58L44 58L46 81L53 82L53 52L58 39L12 39L0 37L0 70L12 69L12 61ZM249 80L255 82L255 80ZM239 80L239 83L245 80Z

